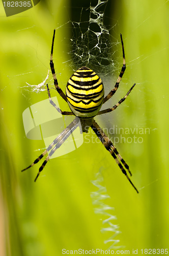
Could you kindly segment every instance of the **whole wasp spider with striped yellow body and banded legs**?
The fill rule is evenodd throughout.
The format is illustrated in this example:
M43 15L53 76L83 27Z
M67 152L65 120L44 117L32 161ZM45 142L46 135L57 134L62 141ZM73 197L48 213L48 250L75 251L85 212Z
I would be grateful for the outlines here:
M39 172L35 178L35 181L37 180L39 174L43 170L44 166L52 156L52 154L59 148L64 141L71 135L71 133L76 129L78 126L78 121L81 122L82 132L88 132L89 127L92 128L92 130L95 132L97 137L100 139L104 147L107 151L111 154L111 156L115 159L117 164L119 165L120 169L122 170L122 173L127 177L131 185L134 187L134 189L137 191L137 188L134 186L132 181L130 180L127 172L131 176L131 172L129 169L129 166L124 161L124 159L121 157L119 152L117 151L117 148L112 144L112 142L109 140L109 138L105 135L105 133L102 131L100 126L96 123L94 120L94 117L96 115L101 115L104 113L108 113L111 111L114 111L117 109L117 107L127 98L131 90L134 88L135 83L130 88L128 93L124 98L122 98L116 105L112 106L112 108L105 109L100 111L100 108L102 104L104 104L108 99L110 99L118 90L120 80L125 72L126 69L126 63L125 63L125 54L124 54L124 45L123 45L123 39L121 36L121 44L122 44L122 51L123 51L123 67L121 69L120 75L117 79L117 82L115 84L114 89L112 89L107 96L104 97L104 88L103 83L100 77L90 68L82 67L78 69L69 79L67 86L66 86L66 95L62 91L62 89L58 86L58 80L55 75L54 71L54 64L53 64L53 45L54 45L54 36L55 36L55 30L53 33L52 38L52 46L51 46L51 54L50 54L50 69L53 75L54 80L54 86L55 89L58 91L58 93L62 96L62 98L69 104L71 112L62 111L58 108L58 106L52 101L50 97L50 91L47 86L47 92L50 103L54 106L55 109L62 115L74 115L76 116L75 119L66 127L66 129L53 140L53 142L46 148L46 150L27 168L23 169L26 170L30 167L32 167L34 164L38 163L40 159L42 159L47 153L48 156L42 163L42 165L39 168ZM22 171L23 171L22 170Z

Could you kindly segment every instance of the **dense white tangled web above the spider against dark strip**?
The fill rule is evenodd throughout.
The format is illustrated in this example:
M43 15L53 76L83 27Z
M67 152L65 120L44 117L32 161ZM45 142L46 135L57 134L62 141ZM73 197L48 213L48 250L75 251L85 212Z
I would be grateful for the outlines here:
M114 55L119 42L111 36L113 27L109 25L110 23L104 25L108 0L98 0L95 6L93 2L90 3L89 8L81 8L79 22L71 22L72 50L69 52L71 59L69 62L74 70L87 66L105 77L116 69ZM116 42L113 42L115 40Z

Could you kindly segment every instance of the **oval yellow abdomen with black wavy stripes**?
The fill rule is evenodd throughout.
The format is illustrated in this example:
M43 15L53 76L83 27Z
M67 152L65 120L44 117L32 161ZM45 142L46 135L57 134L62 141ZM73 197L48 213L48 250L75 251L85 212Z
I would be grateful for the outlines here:
M69 79L66 87L69 107L79 118L97 115L104 99L104 88L100 77L91 69L82 67Z

